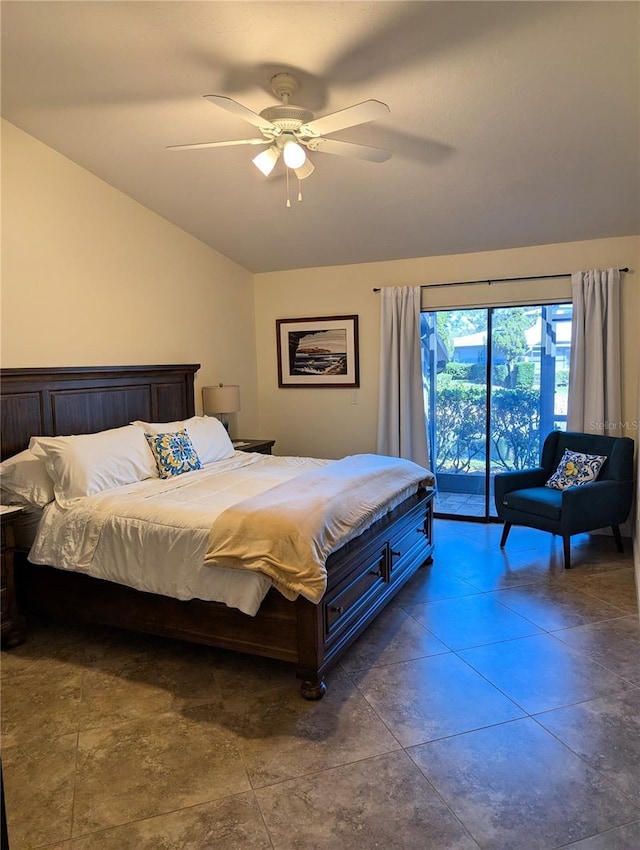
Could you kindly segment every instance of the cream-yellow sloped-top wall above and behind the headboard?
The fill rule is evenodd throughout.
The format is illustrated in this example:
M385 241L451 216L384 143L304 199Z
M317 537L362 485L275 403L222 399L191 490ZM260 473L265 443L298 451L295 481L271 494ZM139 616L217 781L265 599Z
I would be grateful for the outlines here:
M200 363L258 433L253 276L2 123L2 365Z

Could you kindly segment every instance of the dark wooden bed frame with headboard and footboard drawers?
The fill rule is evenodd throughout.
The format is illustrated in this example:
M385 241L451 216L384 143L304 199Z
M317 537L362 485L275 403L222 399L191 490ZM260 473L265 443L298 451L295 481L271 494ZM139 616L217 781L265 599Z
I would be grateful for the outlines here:
M134 419L194 415L199 365L3 369L2 457L34 435L92 433ZM16 560L22 613L80 619L291 662L319 699L324 674L433 551L433 491L421 490L327 561L317 605L273 588L255 617L218 602L181 602L80 573ZM18 553L19 554L19 553Z

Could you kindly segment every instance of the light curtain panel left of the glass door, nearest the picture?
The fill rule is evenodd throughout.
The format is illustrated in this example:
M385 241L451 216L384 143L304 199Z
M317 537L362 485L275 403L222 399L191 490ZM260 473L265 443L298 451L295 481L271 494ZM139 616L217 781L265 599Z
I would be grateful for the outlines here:
M380 291L379 454L429 467L420 351L420 287Z

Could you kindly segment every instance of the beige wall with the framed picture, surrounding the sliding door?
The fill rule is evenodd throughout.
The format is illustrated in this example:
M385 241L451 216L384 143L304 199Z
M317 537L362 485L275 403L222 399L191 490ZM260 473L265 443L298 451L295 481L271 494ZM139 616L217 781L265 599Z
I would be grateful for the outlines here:
M632 270L622 276L623 419L628 422L626 433L637 441L640 237L256 275L261 436L277 440L278 454L340 457L375 450L380 305L373 287L535 276L610 266L629 266ZM570 296L570 279L563 278L539 283L535 288L505 283L427 289L423 290L423 306ZM361 387L356 392L357 404L352 403L353 392L348 389L279 389L275 320L342 314L359 316Z

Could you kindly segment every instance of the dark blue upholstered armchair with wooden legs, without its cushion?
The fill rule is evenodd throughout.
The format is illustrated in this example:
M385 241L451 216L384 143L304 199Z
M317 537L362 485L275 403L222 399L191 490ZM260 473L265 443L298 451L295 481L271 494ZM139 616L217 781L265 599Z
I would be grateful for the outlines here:
M566 490L545 487L565 449L605 455L597 479ZM564 565L569 569L571 535L611 527L618 551L624 551L620 524L629 516L633 502L633 449L630 437L552 431L544 441L539 467L494 477L496 510L504 521L500 548L506 544L512 525L560 534Z

